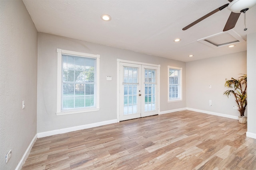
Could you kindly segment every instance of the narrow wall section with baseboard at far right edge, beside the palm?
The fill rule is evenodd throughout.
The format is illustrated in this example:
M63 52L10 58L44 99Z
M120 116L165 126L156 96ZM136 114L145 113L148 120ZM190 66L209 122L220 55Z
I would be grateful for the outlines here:
M247 100L246 136L256 139L256 33L247 35Z

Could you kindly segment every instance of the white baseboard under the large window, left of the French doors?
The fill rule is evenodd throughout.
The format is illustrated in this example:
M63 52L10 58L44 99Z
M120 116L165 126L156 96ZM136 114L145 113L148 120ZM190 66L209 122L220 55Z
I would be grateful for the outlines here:
M58 134L62 134L62 133L78 131L78 130L88 129L88 128L92 128L92 127L98 127L98 126L102 126L102 125L109 125L112 123L117 123L117 119L92 123L92 124L88 124L88 125L68 127L68 128L58 129L58 130L53 130L53 131L41 132L41 133L37 134L37 137L42 138L42 137L47 137L47 136L51 136L51 135L58 135Z

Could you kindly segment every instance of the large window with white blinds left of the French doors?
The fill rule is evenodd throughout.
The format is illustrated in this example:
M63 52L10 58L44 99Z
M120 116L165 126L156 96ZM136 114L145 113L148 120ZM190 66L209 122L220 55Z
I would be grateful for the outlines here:
M61 70L58 67L57 115L98 110L99 55L58 51Z

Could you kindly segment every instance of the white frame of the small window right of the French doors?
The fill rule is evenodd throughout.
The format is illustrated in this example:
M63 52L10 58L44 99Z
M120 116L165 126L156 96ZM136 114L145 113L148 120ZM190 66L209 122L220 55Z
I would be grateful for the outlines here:
M179 98L170 99L170 69L178 70L179 76L178 76L178 96ZM181 102L182 101L182 67L174 67L174 66L168 66L168 103L170 102Z

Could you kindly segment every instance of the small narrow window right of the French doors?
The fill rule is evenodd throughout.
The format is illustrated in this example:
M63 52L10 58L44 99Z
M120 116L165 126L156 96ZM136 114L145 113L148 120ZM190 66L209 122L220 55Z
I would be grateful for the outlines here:
M182 68L168 66L168 101L182 100Z

